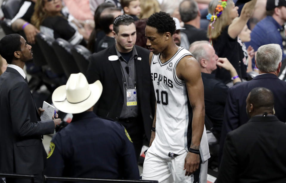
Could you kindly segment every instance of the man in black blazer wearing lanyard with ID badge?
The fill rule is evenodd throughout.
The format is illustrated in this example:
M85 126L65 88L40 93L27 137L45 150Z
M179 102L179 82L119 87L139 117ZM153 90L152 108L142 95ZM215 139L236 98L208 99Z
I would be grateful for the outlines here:
M149 53L134 46L136 28L130 15L119 15L113 23L115 45L93 54L87 81L100 80L103 92L94 112L119 121L128 131L139 157L143 134L150 140L155 94L151 83ZM129 95L131 96L129 97Z

